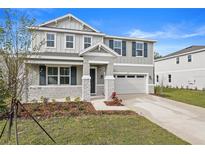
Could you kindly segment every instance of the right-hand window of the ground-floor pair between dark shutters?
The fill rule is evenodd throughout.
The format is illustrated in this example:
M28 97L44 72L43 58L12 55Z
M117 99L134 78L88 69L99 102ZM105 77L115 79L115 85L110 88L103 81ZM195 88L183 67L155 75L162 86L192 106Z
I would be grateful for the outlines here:
M68 67L60 68L60 84L70 83L70 69Z

